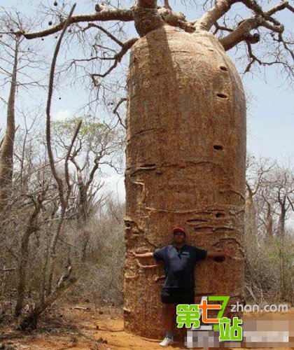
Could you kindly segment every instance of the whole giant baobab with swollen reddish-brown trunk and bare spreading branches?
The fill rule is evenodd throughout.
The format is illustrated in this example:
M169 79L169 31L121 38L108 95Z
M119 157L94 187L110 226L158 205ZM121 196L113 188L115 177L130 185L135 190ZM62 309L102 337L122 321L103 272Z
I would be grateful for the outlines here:
M248 17L234 13L244 6ZM230 295L243 302L246 105L244 89L226 51L246 45L250 71L255 65L279 64L293 77L292 41L279 22L281 11L294 13L288 1L270 7L253 0L216 0L192 21L165 0L137 0L131 8L95 6L89 15L73 15L76 33L96 30L120 47L112 57L85 57L111 62L93 72L100 87L131 49L127 77L127 165L125 241L127 251L145 252L169 242L174 225L183 225L190 244L234 251L231 260L201 262L201 295ZM246 11L245 11L246 12ZM236 15L235 20L228 20ZM134 22L139 37L121 41L106 22ZM86 23L83 26L83 23ZM48 29L18 31L27 39L62 31L61 19ZM269 42L268 60L254 45ZM101 45L100 45L101 49ZM105 48L106 50L106 48ZM126 260L125 330L161 337L159 292L161 265ZM225 310L230 314L230 305Z

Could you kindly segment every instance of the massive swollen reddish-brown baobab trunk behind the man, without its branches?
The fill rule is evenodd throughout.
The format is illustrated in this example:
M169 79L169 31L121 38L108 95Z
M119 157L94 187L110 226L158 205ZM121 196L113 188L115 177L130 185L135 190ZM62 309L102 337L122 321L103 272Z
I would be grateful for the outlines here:
M134 44L127 84L127 251L154 251L183 226L188 244L236 257L197 263L195 301L243 302L246 106L235 66L213 34L164 26ZM125 330L164 335L164 274L153 259L126 260Z

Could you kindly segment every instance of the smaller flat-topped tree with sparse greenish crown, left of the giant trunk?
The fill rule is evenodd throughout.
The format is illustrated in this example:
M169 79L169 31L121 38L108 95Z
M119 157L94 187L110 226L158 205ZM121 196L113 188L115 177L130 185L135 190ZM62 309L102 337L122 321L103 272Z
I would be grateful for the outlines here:
M80 256L82 262L85 262L90 239L87 219L94 214L95 203L103 200L103 196L99 196L99 190L103 183L97 180L97 175L102 176L104 166L109 166L116 172L120 172L123 139L118 130L99 122L92 116L57 121L52 123L52 129L57 153L61 158L64 158L64 153L69 148L70 135L82 120L83 124L76 137L76 142L73 144L69 160L73 165L73 178L76 179L75 186L73 186L73 197L76 197L74 207L78 230L82 237Z

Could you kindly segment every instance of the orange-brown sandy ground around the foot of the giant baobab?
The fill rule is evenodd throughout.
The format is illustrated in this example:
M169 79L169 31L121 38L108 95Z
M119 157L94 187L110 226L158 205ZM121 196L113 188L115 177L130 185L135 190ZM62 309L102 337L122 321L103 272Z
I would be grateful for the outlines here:
M164 349L158 345L158 339L146 339L125 332L121 309L115 307L96 309L91 304L79 304L76 307L85 309L74 309L73 306L55 307L43 317L38 329L33 332L18 332L13 330L11 325L6 325L0 335L0 349ZM281 313L246 313L243 319L246 318L291 320L294 323L294 309ZM175 343L168 349L186 349L186 347L183 343Z

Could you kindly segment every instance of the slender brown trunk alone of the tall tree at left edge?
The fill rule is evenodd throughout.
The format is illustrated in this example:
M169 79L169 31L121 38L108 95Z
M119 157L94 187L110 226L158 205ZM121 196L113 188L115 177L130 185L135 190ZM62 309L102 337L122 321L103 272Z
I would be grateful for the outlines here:
M15 139L15 94L18 74L18 45L15 40L13 71L11 74L10 92L7 104L6 132L0 151L0 214L3 211L8 189L13 179L13 148Z

